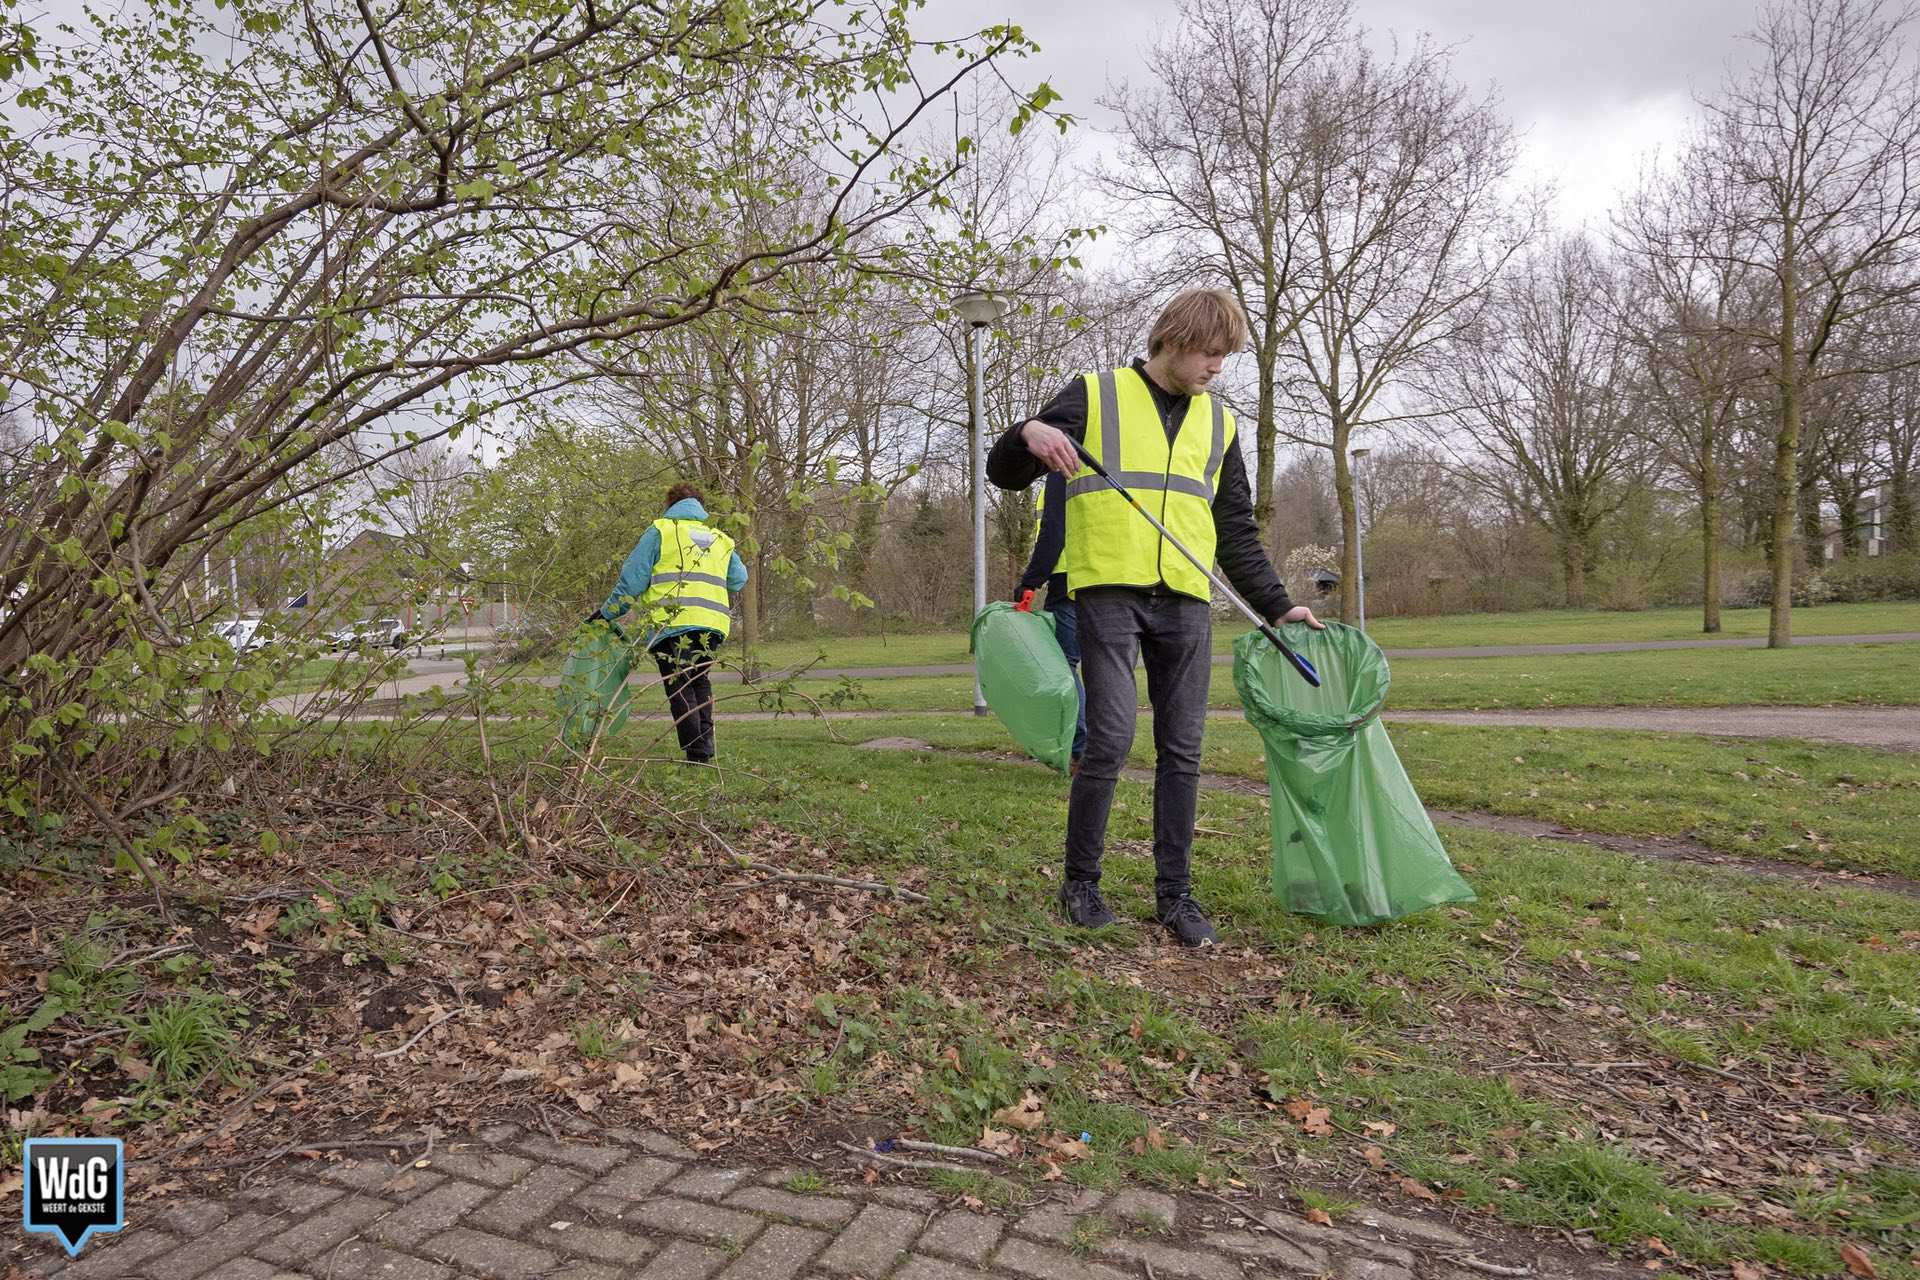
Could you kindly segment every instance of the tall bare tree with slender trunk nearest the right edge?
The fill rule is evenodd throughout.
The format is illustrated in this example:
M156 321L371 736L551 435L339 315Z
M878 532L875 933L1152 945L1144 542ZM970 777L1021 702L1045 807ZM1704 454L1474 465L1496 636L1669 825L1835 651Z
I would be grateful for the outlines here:
M1836 338L1920 288L1920 67L1907 10L1885 0L1778 0L1751 33L1757 58L1703 102L1686 167L1734 194L1728 236L1701 253L1761 273L1770 307L1736 326L1766 353L1772 432L1768 647L1793 641L1807 391L1834 368Z

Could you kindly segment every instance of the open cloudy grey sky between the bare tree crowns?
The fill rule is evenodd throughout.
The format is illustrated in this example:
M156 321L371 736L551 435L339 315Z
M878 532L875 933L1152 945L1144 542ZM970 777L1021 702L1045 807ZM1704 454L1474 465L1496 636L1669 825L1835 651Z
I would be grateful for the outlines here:
M1169 21L1175 0L929 0L916 31L954 35L1004 13L1041 44L1014 67L1046 79L1064 109L1100 127L1108 83L1139 81L1140 48ZM1693 92L1718 84L1757 0L1356 0L1375 35L1430 33L1457 46L1457 75L1498 86L1524 136L1530 175L1559 188L1567 226L1603 223L1632 184L1642 155L1672 148L1693 113ZM1098 146L1089 138L1083 146Z

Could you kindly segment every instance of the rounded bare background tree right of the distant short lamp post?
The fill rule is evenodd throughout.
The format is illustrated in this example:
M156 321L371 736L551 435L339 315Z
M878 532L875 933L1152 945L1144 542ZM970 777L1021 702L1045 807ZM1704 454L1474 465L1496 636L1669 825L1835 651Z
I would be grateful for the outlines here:
M1611 288L1584 236L1546 246L1427 378L1453 472L1551 533L1571 606L1586 603L1594 535L1644 474Z

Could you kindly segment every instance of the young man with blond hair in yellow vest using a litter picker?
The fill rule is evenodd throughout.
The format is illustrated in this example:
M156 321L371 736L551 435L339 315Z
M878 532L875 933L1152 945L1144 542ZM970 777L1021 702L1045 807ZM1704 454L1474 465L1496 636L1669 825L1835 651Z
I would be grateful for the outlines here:
M1208 391L1242 345L1246 317L1233 294L1187 290L1154 322L1144 361L1073 378L987 459L987 478L1002 489L1025 489L1048 470L1068 482L1064 566L1079 608L1087 750L1068 798L1060 906L1085 929L1117 919L1100 894L1100 858L1139 714L1133 666L1144 658L1154 708L1154 919L1181 946L1217 940L1192 898L1213 622L1206 574L1081 464L1075 441L1202 562L1217 560L1261 616L1321 626L1292 604L1260 545L1235 418Z

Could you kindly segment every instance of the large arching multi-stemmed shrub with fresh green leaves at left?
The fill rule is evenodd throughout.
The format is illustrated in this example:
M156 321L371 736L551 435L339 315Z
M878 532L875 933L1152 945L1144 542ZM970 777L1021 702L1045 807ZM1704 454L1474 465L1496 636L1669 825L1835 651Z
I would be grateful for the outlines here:
M192 781L167 760L265 695L204 697L234 685L182 629L194 566L371 464L342 441L405 453L797 267L897 251L872 232L960 163L906 144L922 111L1029 48L922 46L908 15L148 0L36 52L0 31L4 403L54 438L0 528L0 798L84 800L77 768L129 806ZM795 109L768 121L770 94ZM831 198L735 234L795 171Z

